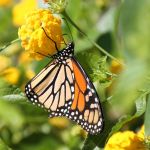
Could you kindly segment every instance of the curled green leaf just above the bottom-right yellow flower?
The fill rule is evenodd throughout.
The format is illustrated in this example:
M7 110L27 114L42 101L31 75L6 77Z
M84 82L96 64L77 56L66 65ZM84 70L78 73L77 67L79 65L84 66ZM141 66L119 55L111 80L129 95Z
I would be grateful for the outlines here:
M145 95L142 95L139 99L136 100L136 113L133 116L127 115L127 116L121 117L119 122L116 123L115 126L113 126L111 132L109 133L108 138L115 132L119 131L125 124L127 124L131 120L143 115L145 110L146 110L146 97Z

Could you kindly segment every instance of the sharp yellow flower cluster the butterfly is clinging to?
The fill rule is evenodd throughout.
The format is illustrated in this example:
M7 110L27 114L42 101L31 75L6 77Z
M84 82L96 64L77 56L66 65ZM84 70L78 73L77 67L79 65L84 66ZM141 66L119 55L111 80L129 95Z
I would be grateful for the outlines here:
M56 53L55 44L46 34L61 47L63 41L61 20L55 17L49 10L35 10L26 16L26 23L21 26L18 35L22 41L22 47L28 51L31 57L41 59L44 55ZM39 54L41 53L41 54Z

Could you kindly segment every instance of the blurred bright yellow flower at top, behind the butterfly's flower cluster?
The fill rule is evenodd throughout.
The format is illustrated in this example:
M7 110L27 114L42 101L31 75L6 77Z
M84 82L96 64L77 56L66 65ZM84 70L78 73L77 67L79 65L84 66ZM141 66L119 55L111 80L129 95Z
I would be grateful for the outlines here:
M25 22L27 12L37 8L36 0L21 0L13 8L13 23L15 26L20 26Z

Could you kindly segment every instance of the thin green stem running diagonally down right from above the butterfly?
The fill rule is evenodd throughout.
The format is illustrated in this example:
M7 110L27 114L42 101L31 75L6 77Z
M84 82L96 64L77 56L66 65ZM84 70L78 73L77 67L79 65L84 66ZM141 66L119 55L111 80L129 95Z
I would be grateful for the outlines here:
M62 14L67 18L67 20L83 35L85 36L88 41L93 44L95 47L97 47L102 53L104 53L105 55L107 55L109 58L115 60L116 62L118 62L121 65L125 65L122 62L120 62L117 58L115 58L114 56L112 56L111 54L109 54L106 50L104 50L101 46L99 46L96 42L94 42L93 40L91 40L88 35L86 33L84 33L74 22L73 20L69 17L69 15L66 13L66 11L62 12Z

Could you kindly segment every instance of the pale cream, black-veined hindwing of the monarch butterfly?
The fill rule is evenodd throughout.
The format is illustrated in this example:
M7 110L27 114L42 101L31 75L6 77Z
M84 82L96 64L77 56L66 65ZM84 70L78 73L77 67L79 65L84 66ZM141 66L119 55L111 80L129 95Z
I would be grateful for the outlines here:
M53 61L35 76L25 87L33 104L46 108L50 117L63 116L74 98L74 75L70 59L65 64Z

